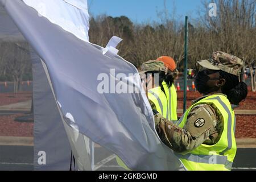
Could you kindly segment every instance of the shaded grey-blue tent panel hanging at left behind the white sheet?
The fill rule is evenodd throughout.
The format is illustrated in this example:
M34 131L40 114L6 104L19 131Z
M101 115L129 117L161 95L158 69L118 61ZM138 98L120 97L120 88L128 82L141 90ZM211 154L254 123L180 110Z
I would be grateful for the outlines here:
M34 170L64 170L71 164L71 144L38 56L32 59L34 103ZM42 154L45 154L44 160ZM43 163L44 162L44 163ZM72 163L72 170L75 167Z

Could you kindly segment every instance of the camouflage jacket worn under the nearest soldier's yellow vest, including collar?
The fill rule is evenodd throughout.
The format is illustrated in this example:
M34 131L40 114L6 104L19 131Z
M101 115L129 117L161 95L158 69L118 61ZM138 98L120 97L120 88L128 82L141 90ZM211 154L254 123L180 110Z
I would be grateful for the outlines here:
M197 101L208 96L199 98ZM187 153L200 144L215 144L221 137L223 131L223 118L220 111L214 105L200 104L194 106L188 114L187 122L183 128L176 126L161 114L155 111L154 103L150 101L155 114L156 131L164 144L175 152ZM205 124L196 127L195 121L203 118Z

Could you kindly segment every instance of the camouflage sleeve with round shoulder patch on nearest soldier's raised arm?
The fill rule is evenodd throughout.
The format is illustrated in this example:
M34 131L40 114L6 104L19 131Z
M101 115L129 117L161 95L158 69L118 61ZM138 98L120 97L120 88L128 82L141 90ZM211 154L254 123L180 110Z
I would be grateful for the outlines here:
M189 152L208 139L216 126L216 114L207 104L195 106L182 128L155 114L156 131L164 144L176 152Z

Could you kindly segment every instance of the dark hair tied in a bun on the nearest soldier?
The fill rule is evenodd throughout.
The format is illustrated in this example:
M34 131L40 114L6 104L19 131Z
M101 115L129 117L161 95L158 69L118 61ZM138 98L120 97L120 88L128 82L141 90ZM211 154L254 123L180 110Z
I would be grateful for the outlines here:
M248 90L245 82L239 82L239 78L236 75L232 75L230 73L224 71L218 71L220 73L221 78L226 80L224 86L222 86L221 90L226 96L228 96L228 100L231 104L238 105L241 101L244 101Z

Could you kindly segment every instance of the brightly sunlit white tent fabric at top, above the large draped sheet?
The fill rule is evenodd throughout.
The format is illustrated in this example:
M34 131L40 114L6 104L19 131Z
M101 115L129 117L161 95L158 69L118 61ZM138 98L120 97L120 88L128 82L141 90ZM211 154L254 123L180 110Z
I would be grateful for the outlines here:
M87 0L23 0L38 11L39 16L89 42L89 14Z

